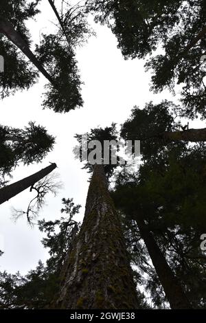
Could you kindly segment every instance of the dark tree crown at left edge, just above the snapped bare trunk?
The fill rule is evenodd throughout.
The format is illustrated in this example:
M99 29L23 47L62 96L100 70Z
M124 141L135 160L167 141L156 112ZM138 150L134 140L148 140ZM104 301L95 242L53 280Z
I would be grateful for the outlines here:
M28 165L41 161L54 146L54 137L35 122L25 129L0 126L0 170L9 174L19 162Z

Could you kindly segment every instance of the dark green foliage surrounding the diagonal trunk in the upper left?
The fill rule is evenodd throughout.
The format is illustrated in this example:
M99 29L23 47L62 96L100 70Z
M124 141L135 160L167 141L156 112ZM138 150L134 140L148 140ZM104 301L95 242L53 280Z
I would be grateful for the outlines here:
M39 1L26 4L22 0L18 5L15 2L10 0L0 7L3 12L2 16L0 14L0 32L2 29L3 33L0 54L5 60L5 71L0 75L1 97L9 96L19 89L29 89L36 82L38 72L33 69L31 65L33 63L49 80L49 84L45 86L47 91L43 101L44 108L62 113L82 107L80 94L82 82L75 49L92 34L87 23L87 14L82 10L82 6L67 5L60 15L60 29L56 34L42 35L41 44L36 45L36 52L33 54L30 51L31 39L25 27L25 20L33 18L39 12L36 8ZM14 27L13 32L11 30L5 32L1 27L1 21L11 23ZM14 31L17 32L17 36L14 36ZM16 40L18 36L21 39ZM14 38L18 48L10 41ZM29 62L19 49L29 58Z

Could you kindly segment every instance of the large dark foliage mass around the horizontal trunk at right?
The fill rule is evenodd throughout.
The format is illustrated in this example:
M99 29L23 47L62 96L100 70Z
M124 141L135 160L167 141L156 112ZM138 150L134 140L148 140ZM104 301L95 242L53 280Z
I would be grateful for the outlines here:
M162 132L180 126L169 107L164 102L148 104L144 110L135 108L122 126L124 139L140 138L144 164L136 175L126 170L119 175L113 197L133 232L134 227L137 230L135 216L144 217L192 307L205 308L205 254L200 249L206 228L205 144L187 146L162 140ZM143 249L139 252L139 238L138 230L135 239L128 231L132 260L139 275L146 274L144 287L150 291L153 304L160 307L165 296L157 274L148 265L149 258L141 260L147 253Z

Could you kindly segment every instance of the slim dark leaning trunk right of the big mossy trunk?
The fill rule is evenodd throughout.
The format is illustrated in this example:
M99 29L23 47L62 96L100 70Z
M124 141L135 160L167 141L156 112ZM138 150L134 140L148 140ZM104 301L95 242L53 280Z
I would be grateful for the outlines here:
M148 226L144 223L144 220L141 219L141 216L135 216L135 219L139 227L141 238L143 238L144 243L146 244L152 263L159 276L163 290L165 291L165 296L170 302L171 309L191 309L190 302L187 300L181 285L161 253Z

